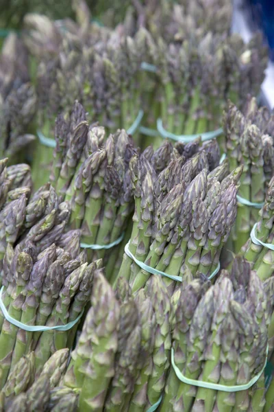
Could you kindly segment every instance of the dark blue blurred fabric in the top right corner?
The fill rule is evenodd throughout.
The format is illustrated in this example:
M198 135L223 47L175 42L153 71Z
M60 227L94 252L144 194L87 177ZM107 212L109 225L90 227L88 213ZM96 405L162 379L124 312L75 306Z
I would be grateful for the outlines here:
M274 0L247 0L253 23L264 32L270 49L270 58L274 60Z

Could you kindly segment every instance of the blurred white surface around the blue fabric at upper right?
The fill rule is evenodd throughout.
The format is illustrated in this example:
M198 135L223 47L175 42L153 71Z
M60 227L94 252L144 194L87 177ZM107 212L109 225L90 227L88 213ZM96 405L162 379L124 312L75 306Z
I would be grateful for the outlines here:
M234 12L232 17L232 33L239 33L243 40L247 43L251 37L252 32L249 29L245 14L240 9L240 0L234 0ZM269 108L274 108L274 63L269 61L266 69L266 78L262 83L262 93Z

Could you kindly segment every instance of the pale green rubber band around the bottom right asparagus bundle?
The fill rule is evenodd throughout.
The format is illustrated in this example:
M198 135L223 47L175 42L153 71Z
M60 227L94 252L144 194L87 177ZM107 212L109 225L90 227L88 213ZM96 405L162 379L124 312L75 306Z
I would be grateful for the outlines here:
M269 353L269 345L267 345L266 347L266 360L264 362L264 367L262 367L262 370L256 376L253 376L253 378L249 380L249 382L245 383L244 385L227 386L227 385L220 385L219 383L205 382L203 380L195 380L195 379L186 378L186 376L184 376L182 372L179 370L179 367L177 367L175 364L173 347L171 348L171 364L173 366L173 369L175 371L177 378L181 380L182 382L186 383L187 385L231 393L231 392L245 391L246 389L249 389L251 386L254 385L254 383L257 382L257 380L260 378L260 376L262 375L262 372L264 371L266 367L268 353Z

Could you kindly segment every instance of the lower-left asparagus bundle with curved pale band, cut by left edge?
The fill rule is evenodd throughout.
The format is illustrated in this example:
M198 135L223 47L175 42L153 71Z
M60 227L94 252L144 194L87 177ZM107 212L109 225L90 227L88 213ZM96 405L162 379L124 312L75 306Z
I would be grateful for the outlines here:
M73 232L66 233L65 249L51 244L38 253L27 240L25 247L18 244L14 251L7 251L2 301L8 315L28 326L70 326L67 330L25 330L1 312L1 387L12 367L31 350L40 371L51 354L66 345L72 347L77 323L90 299L93 273L100 268L101 261L86 263L86 253L79 253L79 234L75 242Z

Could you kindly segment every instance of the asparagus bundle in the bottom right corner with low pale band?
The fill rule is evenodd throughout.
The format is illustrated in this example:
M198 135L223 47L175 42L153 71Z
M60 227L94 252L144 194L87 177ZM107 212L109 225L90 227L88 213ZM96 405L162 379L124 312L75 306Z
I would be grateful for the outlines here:
M214 286L205 286L198 279L182 286L175 310L173 369L160 411L262 411L271 296L241 258L231 273L223 271ZM179 372L183 378L225 387L248 384L256 376L256 384L227 393L223 387L181 382Z

